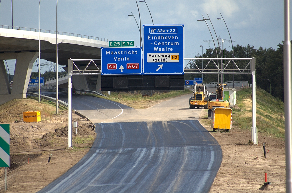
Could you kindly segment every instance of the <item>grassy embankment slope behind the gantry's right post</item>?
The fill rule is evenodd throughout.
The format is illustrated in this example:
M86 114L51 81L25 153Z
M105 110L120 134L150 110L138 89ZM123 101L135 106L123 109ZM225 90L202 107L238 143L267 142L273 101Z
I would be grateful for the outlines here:
M232 107L232 126L251 130L252 88L244 88L236 93L236 103ZM256 126L258 132L267 136L285 137L284 103L268 92L256 89Z

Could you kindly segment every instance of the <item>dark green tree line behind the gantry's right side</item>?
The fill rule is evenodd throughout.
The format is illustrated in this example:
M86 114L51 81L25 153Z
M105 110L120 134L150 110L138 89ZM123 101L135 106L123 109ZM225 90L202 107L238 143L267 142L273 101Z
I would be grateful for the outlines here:
M220 53L220 48L216 48L217 52ZM271 48L260 47L258 49L251 45L242 46L236 45L233 47L235 58L256 58L256 86L260 87L267 92L270 92L269 80L261 80L261 78L271 80L271 94L284 101L284 61L283 61L283 50L284 41L278 44L278 48L275 50ZM222 49L221 49L222 52ZM224 49L224 58L233 58L232 50L228 51ZM206 49L206 53L203 55L197 55L198 58L217 58L216 50L213 48ZM220 55L218 54L218 57ZM204 62L206 62L205 60ZM214 60L215 61L215 60ZM217 62L217 61L216 61ZM224 62L225 63L225 62ZM201 60L196 60L196 64L199 68L202 66ZM204 64L204 63L203 63ZM246 63L247 64L247 63ZM246 65L245 64L245 65ZM219 61L219 65L221 62ZM225 63L226 65L226 63ZM237 60L237 65L245 67L243 61ZM204 64L204 67L206 64ZM215 65L214 65L215 66ZM209 68L214 68L214 66ZM196 68L194 63L190 63L188 68ZM233 69L233 63L230 64L231 69ZM220 75L219 75L220 76ZM195 77L201 77L200 74L185 74L185 80L194 80ZM221 77L221 76L220 76ZM221 79L220 79L221 81ZM224 82L233 81L233 74L224 74ZM234 81L248 81L249 84L252 83L251 74L235 74ZM204 74L204 82L218 82L217 74Z

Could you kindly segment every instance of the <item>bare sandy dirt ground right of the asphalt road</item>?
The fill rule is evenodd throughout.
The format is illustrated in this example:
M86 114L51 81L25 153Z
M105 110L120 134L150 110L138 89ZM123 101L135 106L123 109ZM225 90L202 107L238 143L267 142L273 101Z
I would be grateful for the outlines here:
M201 117L206 115L207 110L203 110ZM200 119L200 123L220 144L223 160L210 193L263 192L259 189L265 182L265 173L267 181L271 182L265 190L285 192L284 139L258 133L258 145L248 145L250 131L233 127L227 133L213 132L211 122L211 119ZM266 143L267 158L264 157L263 142Z

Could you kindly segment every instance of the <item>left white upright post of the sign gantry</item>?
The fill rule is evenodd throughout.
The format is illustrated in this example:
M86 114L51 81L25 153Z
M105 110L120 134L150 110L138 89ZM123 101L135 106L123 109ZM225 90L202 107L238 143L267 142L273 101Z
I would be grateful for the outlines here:
M72 72L73 61L68 59L68 148L72 148Z

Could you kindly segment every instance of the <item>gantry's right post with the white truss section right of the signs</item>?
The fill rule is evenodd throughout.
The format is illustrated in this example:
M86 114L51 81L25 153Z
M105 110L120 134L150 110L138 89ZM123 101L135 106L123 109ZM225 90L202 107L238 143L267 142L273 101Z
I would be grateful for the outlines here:
M207 62L204 62L206 66L199 68L197 63L202 60L207 60ZM185 66L185 74L252 74L253 123L251 126L251 141L254 144L258 144L258 128L256 127L256 58L185 58L185 61L188 61ZM227 63L225 64L224 61ZM190 69L190 64L194 68ZM224 80L222 80L223 82Z

